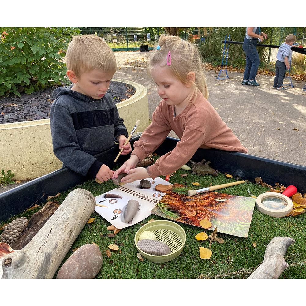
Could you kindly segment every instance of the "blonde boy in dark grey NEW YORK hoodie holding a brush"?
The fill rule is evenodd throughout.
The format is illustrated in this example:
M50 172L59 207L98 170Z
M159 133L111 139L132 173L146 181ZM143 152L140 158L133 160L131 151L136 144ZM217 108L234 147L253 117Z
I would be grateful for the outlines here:
M121 154L128 133L111 95L106 91L117 69L110 47L96 35L74 36L66 53L71 86L53 92L50 127L53 152L71 170L99 181L112 178L114 171L92 155L119 143Z

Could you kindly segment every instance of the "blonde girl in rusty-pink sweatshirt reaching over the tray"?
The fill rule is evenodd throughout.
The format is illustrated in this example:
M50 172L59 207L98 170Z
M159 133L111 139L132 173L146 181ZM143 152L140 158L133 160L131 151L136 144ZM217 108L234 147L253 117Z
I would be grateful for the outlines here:
M233 131L207 101L208 91L196 47L177 36L162 35L149 58L149 72L162 101L152 122L134 143L131 157L114 172L124 172L121 182L169 175L187 163L198 148L216 148L246 153ZM143 168L136 164L154 152L173 130L176 147Z

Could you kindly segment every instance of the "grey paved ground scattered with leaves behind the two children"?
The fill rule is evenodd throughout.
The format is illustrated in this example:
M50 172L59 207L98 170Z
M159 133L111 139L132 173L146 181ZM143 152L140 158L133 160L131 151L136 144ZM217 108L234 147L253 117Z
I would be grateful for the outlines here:
M160 97L155 83L147 76L149 54L115 52L118 69L114 77L147 88L151 118ZM260 86L254 87L241 85L243 73L228 71L230 78L226 80L216 79L218 74L219 71L206 71L208 100L248 148L248 154L306 166L306 91L302 90L305 82L293 80L294 88L280 91L272 88L274 76L258 75ZM174 137L172 133L170 136Z

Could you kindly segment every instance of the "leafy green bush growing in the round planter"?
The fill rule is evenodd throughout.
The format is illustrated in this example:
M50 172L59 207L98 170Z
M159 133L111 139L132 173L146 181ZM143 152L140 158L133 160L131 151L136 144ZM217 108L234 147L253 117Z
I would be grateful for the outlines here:
M78 28L0 28L0 97L65 82L64 53Z

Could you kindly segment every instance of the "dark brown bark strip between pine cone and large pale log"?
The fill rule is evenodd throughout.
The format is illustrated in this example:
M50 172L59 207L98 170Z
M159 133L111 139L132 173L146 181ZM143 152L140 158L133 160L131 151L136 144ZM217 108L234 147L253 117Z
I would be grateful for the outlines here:
M59 205L54 202L47 202L42 209L32 215L18 238L11 244L11 248L14 250L21 250L27 245L58 207Z

